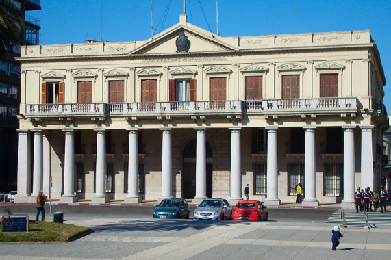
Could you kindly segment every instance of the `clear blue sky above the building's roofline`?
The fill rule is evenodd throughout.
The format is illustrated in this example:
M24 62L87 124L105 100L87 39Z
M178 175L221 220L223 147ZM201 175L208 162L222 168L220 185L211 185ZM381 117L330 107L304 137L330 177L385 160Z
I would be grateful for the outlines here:
M155 34L179 23L182 3L183 0L153 0ZM42 10L29 12L41 21L41 44L81 43L86 39L124 42L151 37L151 0L41 0L41 6ZM186 14L188 22L207 30L209 24L216 33L216 0L186 0ZM391 86L391 1L218 0L220 36L364 29L370 29L377 42ZM388 85L384 87L384 103L391 112Z

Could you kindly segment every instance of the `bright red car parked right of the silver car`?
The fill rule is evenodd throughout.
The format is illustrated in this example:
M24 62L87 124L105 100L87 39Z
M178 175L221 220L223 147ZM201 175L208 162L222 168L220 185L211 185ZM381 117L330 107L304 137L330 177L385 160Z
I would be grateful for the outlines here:
M233 220L268 220L268 210L258 200L240 200L232 210Z

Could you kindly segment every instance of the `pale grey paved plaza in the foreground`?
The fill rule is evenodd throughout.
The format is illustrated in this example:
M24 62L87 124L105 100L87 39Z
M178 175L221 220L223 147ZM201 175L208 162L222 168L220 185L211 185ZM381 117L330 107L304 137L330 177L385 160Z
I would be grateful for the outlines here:
M51 219L48 218L50 221ZM0 244L0 259L388 259L391 226L341 228L314 222L212 222L73 218L94 233L68 243Z

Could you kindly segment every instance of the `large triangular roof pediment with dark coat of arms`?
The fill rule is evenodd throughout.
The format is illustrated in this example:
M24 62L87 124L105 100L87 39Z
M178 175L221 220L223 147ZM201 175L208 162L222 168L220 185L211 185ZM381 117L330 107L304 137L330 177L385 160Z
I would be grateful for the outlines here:
M129 54L164 55L167 53L216 53L237 50L234 44L231 44L232 40L228 41L189 23L186 25L179 23L142 42L140 47Z

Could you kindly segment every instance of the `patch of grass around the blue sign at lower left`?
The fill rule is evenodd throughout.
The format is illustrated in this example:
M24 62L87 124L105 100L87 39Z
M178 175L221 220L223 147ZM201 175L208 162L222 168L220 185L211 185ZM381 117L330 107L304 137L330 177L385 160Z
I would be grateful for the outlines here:
M29 232L0 233L0 242L68 242L92 232L84 226L45 221L29 221Z

